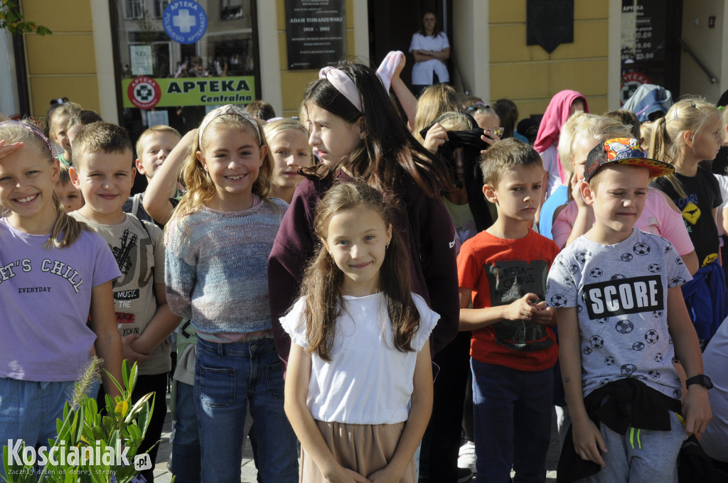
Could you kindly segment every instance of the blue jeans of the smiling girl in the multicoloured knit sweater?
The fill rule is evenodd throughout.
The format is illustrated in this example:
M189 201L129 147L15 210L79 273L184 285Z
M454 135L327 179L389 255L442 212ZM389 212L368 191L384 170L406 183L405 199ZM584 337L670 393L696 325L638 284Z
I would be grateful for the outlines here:
M296 434L283 411L283 364L273 339L224 344L197 340L194 399L203 483L240 483L248 404L263 482L298 482Z

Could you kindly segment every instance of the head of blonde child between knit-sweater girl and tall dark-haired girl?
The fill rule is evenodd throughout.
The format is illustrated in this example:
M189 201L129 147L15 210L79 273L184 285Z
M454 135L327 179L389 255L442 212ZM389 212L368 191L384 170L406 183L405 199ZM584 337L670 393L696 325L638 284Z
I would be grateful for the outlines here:
M273 159L271 196L290 203L293 191L304 179L298 169L314 164L309 132L296 119L278 119L267 123L263 130Z

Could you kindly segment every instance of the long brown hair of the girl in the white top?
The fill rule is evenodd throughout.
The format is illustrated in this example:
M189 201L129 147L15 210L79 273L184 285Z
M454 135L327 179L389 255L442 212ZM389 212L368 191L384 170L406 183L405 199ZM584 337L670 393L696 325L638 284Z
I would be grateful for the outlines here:
M381 216L385 225L392 225L395 205L385 200L379 191L363 183L339 183L323 197L314 218L314 231L325 240L331 218L347 209L365 207ZM419 311L412 300L409 256L402 237L392 230L387 254L379 269L379 289L387 301L392 322L394 345L398 351L414 351L412 339L419 330ZM341 315L341 283L344 274L336 266L323 244L306 266L301 284L301 296L306 297L304 322L307 351L331 361L336 319Z

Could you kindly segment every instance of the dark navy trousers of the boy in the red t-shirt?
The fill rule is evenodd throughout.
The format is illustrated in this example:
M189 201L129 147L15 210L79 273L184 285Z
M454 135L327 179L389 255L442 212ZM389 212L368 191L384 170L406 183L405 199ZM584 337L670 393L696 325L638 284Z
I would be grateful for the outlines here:
M477 483L546 481L553 370L521 371L470 358Z

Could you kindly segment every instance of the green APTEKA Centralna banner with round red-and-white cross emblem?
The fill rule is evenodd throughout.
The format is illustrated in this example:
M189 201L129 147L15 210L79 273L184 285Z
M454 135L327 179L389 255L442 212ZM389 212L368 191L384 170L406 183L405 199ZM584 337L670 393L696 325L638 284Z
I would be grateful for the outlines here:
M256 99L255 77L183 77L122 80L125 108L248 104Z

